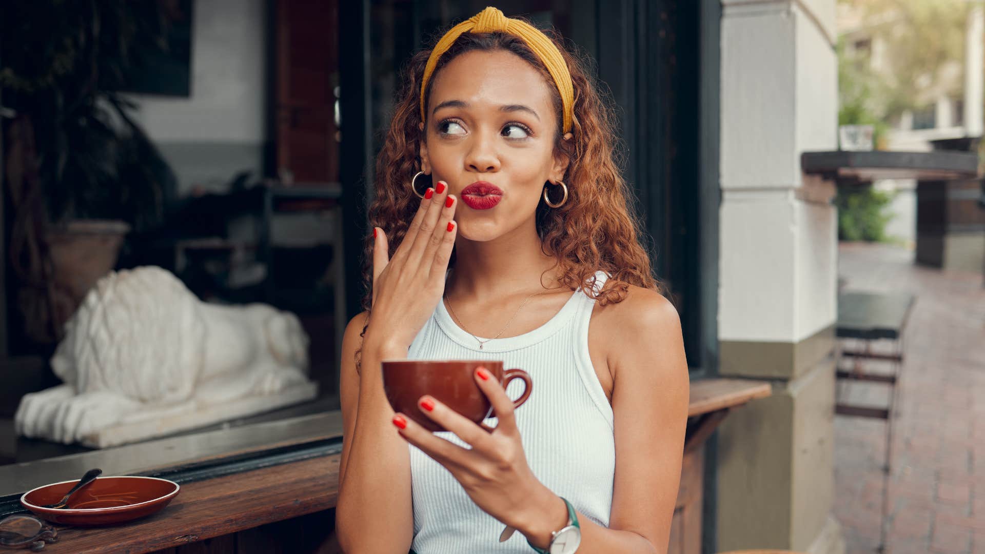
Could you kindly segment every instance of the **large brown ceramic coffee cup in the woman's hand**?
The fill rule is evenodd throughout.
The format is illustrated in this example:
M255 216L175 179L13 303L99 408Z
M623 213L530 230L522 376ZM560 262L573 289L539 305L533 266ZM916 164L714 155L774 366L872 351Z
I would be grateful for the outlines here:
M523 394L513 400L513 407L527 401L533 381L523 370L502 370L502 362L483 360L394 360L383 362L383 390L393 410L410 417L428 431L447 431L434 423L418 406L429 394L476 424L493 415L489 398L475 380L476 370L486 368L503 388L514 379L526 383Z

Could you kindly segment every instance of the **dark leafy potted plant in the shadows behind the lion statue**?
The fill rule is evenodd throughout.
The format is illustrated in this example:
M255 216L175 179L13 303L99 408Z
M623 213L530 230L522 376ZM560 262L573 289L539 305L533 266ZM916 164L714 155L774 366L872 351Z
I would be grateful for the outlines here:
M120 93L143 48L164 48L166 2L33 0L0 18L0 115L10 265L25 334L57 341L154 226L175 177Z

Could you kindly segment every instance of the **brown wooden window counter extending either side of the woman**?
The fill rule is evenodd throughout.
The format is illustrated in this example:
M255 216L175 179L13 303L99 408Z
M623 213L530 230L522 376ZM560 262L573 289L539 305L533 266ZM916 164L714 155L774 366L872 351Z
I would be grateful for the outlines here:
M730 410L769 394L770 385L764 381L691 381L685 462L675 511L679 526L671 552L700 551L703 442ZM339 420L333 427L341 428L340 412L325 415ZM338 499L341 436L334 434L320 443L318 449L311 449L323 452L320 455L285 463L275 460L245 472L233 468L227 475L184 482L170 505L146 519L107 527L61 527L58 542L44 551L246 554L310 552L320 545L318 552L336 552L330 510Z

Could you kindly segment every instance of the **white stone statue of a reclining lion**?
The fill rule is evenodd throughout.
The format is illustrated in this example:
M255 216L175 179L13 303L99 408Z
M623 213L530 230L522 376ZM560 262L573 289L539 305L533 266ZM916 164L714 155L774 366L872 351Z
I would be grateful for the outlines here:
M65 331L65 382L21 399L19 435L103 448L317 395L296 315L203 303L160 267L106 274Z

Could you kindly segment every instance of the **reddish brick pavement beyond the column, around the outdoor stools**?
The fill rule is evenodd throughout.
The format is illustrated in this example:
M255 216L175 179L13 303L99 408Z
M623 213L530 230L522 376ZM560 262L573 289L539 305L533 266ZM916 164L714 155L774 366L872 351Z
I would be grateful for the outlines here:
M917 297L896 385L886 551L985 554L985 288L980 273L925 268L912 257L879 244L839 247L846 289ZM852 403L886 405L886 385L839 386ZM849 554L879 544L885 426L835 418L834 514Z

